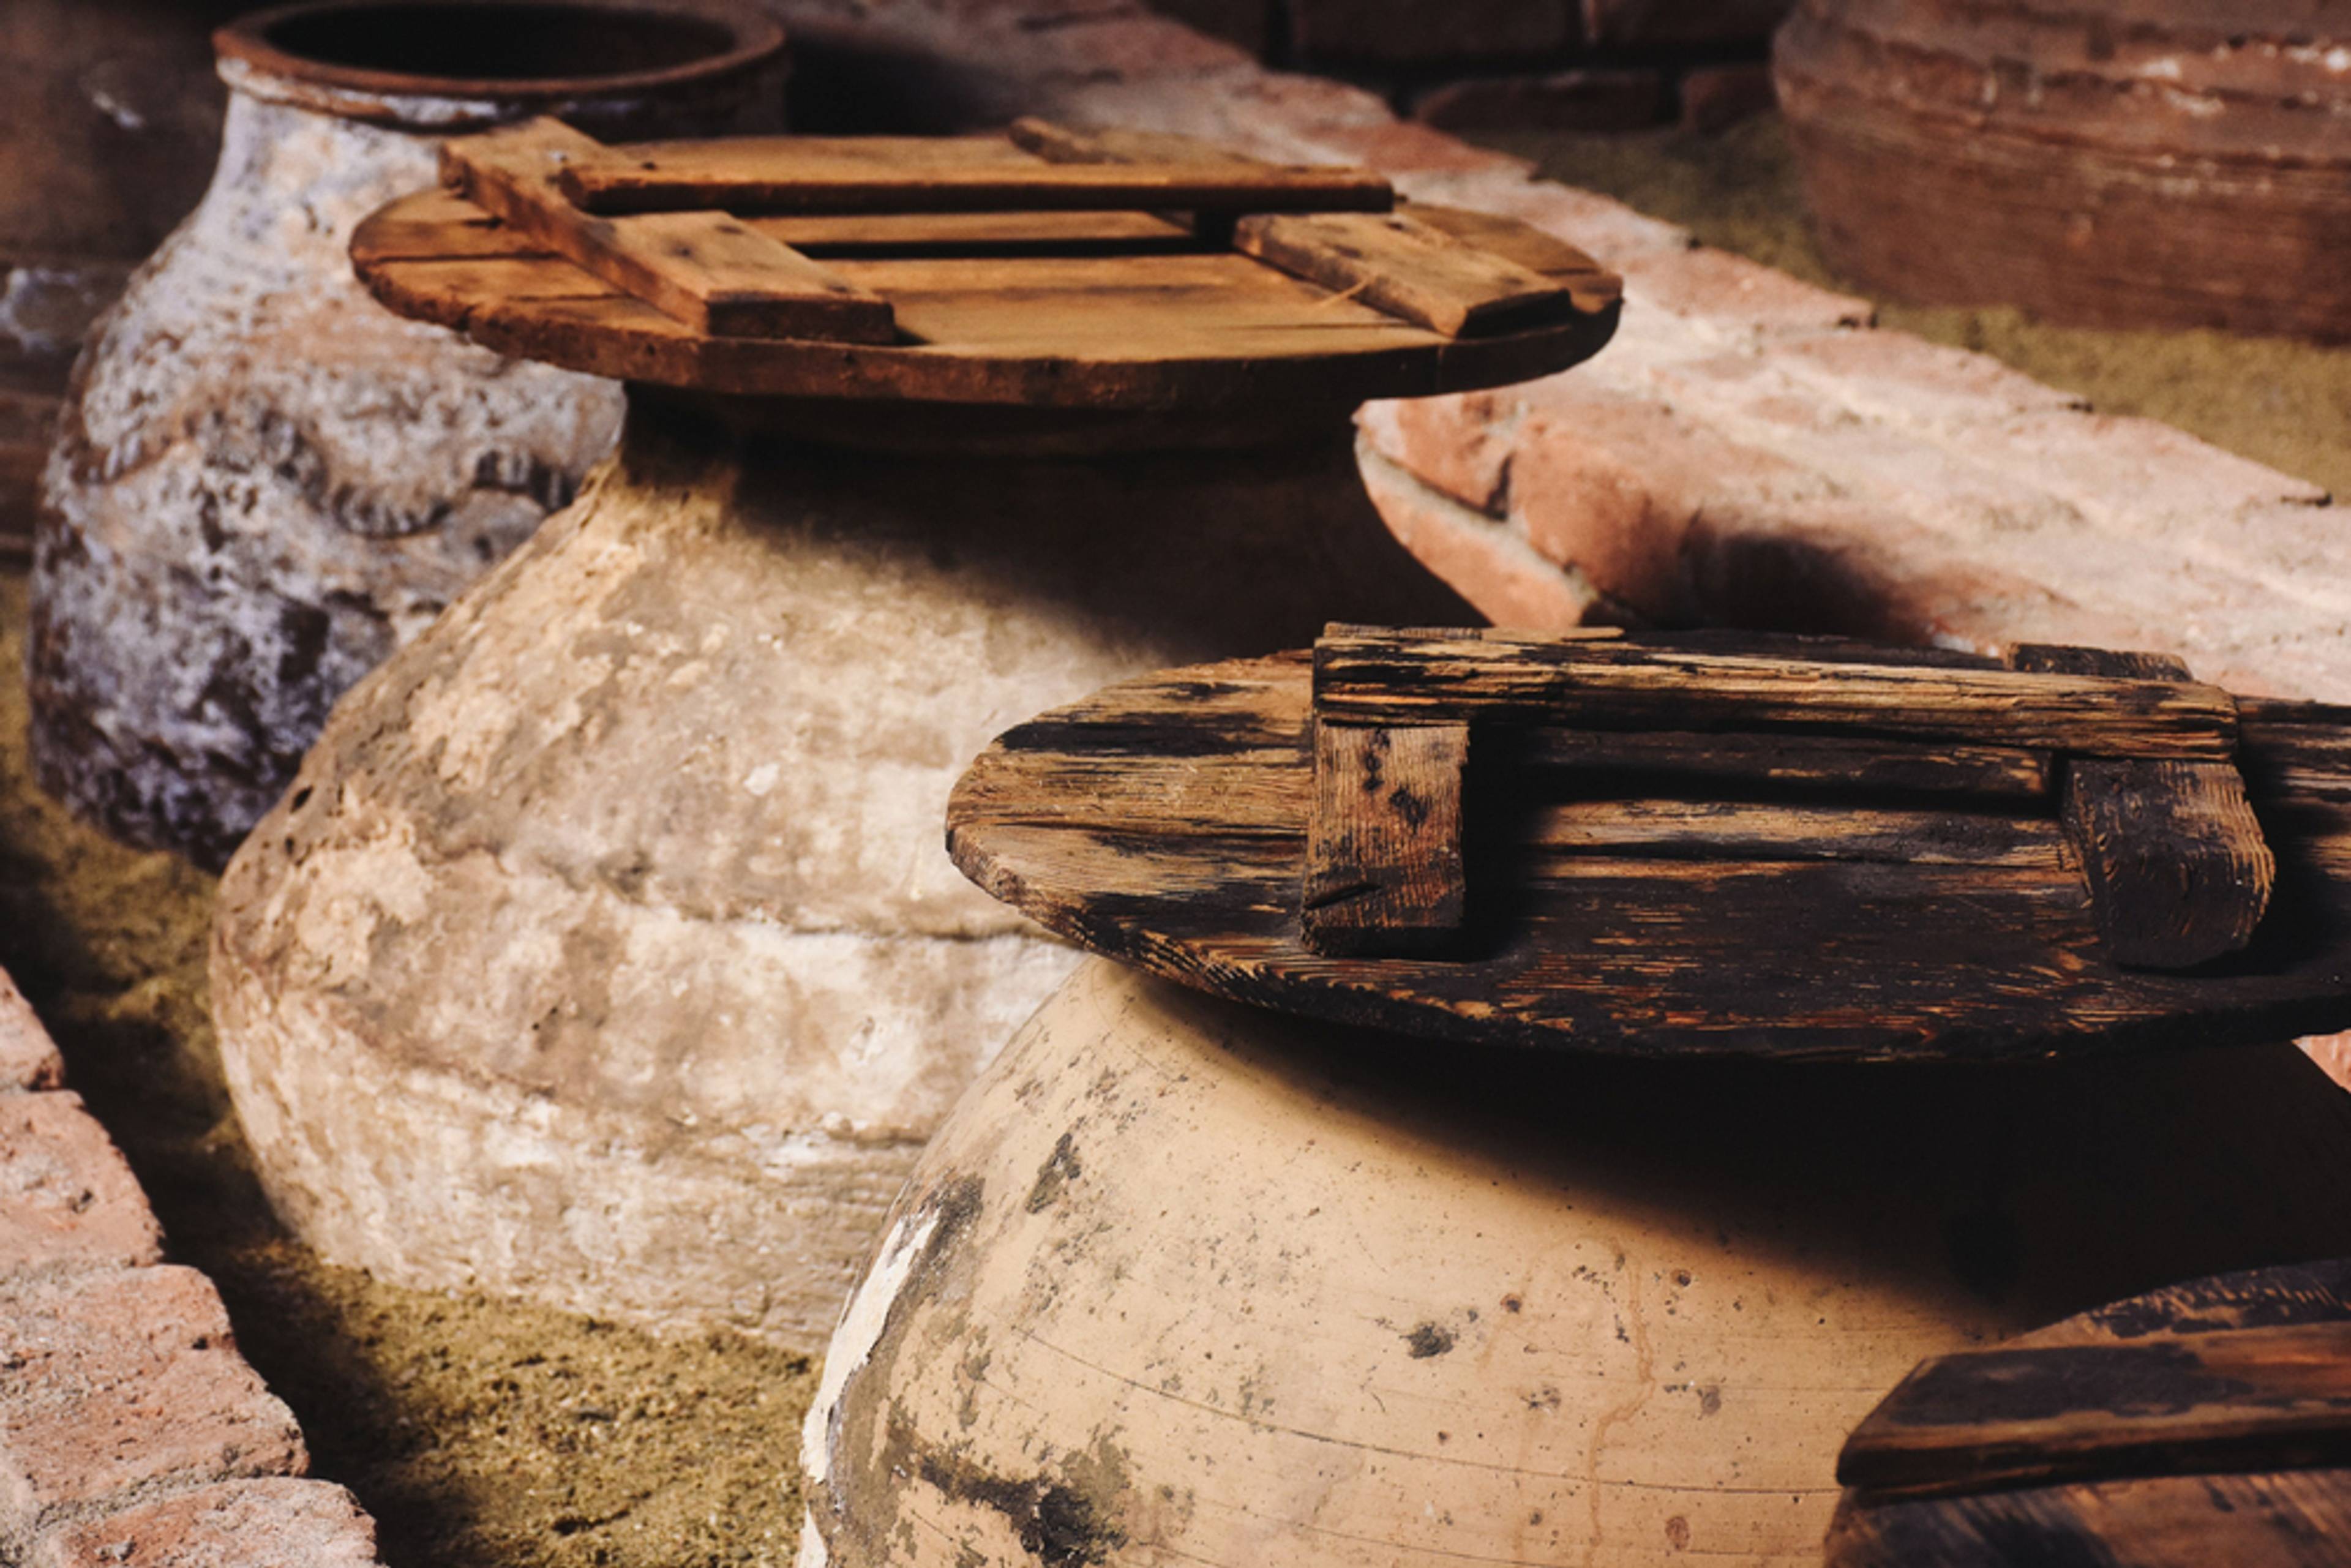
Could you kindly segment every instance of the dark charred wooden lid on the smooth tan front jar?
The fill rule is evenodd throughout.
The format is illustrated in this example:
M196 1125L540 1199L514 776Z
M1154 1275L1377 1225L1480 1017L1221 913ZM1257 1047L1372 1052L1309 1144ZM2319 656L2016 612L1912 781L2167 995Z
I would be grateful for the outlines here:
M947 846L1284 1011L1662 1056L2351 1025L2351 708L2175 661L1333 628L1023 724Z

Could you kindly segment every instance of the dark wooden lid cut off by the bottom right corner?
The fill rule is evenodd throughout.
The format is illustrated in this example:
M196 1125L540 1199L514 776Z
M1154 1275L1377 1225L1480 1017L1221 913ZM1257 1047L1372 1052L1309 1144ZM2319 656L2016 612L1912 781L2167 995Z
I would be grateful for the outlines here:
M1829 1568L2351 1561L2346 1291L2222 1274L1921 1363L1838 1455Z

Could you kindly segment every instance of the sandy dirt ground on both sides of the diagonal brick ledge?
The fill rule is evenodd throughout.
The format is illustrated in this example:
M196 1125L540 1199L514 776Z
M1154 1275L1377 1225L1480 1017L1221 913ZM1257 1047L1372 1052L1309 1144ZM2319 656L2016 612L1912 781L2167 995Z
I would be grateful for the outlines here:
M1775 120L1728 136L1488 136L1556 179L1834 284ZM1994 353L2109 411L2151 414L2351 489L2351 350L2038 327L1888 306L1890 327ZM26 583L0 569L0 966L52 1023L176 1258L228 1298L315 1472L383 1526L393 1568L788 1563L813 1368L741 1340L658 1342L585 1319L379 1286L277 1232L205 1016L212 879L73 823L31 780Z

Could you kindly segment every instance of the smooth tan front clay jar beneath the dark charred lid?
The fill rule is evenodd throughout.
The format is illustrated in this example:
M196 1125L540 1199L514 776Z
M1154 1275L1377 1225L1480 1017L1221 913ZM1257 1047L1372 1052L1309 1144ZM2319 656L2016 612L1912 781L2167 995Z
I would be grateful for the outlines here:
M2346 1251L2351 1095L2285 1044L1601 1063L1089 961L891 1211L799 1568L1810 1568L1921 1356Z

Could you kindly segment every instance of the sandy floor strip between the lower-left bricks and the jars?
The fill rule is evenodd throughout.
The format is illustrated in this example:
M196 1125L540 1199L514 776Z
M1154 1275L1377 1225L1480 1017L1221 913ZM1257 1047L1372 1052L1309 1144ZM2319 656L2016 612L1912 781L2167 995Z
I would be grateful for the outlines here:
M379 1286L287 1241L205 1016L212 879L82 827L31 780L26 583L0 571L0 966L129 1154L172 1255L374 1509L390 1568L750 1568L799 1542L809 1361Z

